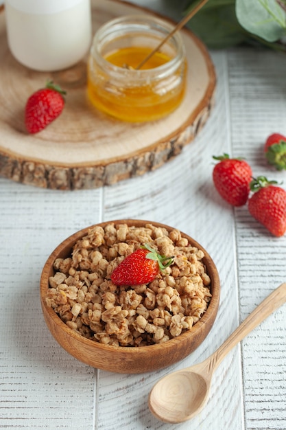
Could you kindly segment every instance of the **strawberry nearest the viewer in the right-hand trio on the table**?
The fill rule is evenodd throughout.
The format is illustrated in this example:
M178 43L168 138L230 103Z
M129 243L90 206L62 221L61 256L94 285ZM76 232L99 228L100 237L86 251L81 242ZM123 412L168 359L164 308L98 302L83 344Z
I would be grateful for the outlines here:
M286 191L274 183L276 181L268 181L265 177L251 181L254 194L248 201L248 210L274 236L283 236L286 231Z

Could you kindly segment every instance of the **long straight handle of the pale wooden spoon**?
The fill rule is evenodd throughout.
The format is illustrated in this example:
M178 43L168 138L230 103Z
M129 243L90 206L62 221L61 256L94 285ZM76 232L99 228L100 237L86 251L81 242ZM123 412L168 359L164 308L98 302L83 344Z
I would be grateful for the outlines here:
M268 297L266 297L257 308L237 327L228 339L212 355L211 367L213 370L222 362L224 357L237 345L246 335L257 327L264 319L269 317L274 310L286 302L286 282L278 286Z

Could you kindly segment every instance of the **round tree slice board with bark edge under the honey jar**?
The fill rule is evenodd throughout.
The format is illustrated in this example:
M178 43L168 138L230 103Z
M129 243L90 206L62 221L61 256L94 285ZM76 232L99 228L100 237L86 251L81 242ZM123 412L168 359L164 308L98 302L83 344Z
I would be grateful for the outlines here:
M92 0L93 32L119 15L147 13L119 0ZM110 185L144 174L180 153L211 112L215 70L202 42L181 30L187 50L187 94L163 120L120 122L93 109L86 97L86 59L55 73L32 71L10 54L5 10L0 13L0 174L25 184L58 190ZM29 95L51 79L67 90L64 111L36 135L25 131Z

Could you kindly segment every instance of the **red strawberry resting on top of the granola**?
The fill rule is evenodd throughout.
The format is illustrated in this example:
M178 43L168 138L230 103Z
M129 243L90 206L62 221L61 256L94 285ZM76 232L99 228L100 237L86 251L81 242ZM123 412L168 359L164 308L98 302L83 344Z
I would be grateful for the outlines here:
M149 245L136 249L127 256L112 272L115 285L140 285L152 282L160 269L169 267L173 257L160 256Z

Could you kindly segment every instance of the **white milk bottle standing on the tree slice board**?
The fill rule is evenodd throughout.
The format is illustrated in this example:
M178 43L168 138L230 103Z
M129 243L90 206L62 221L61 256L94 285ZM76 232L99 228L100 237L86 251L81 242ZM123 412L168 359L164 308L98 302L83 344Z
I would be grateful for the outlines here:
M91 45L90 0L5 0L8 45L23 65L66 69Z

